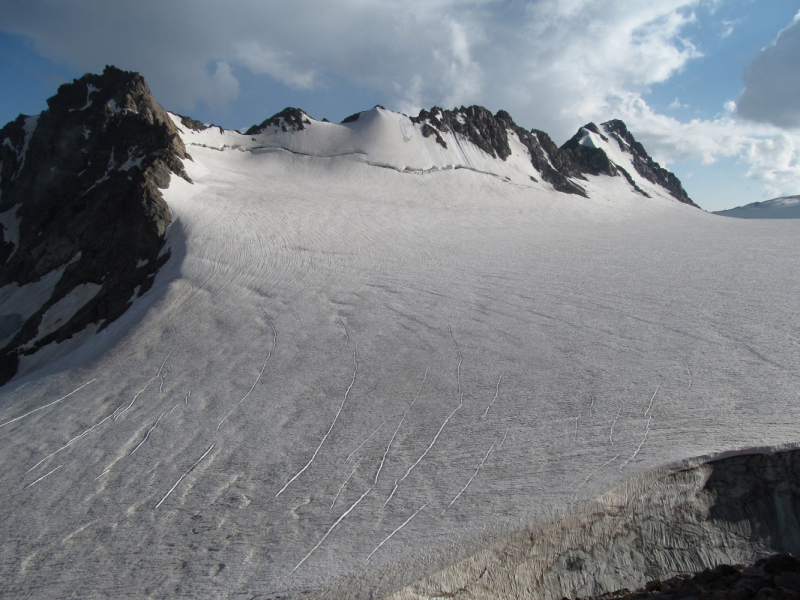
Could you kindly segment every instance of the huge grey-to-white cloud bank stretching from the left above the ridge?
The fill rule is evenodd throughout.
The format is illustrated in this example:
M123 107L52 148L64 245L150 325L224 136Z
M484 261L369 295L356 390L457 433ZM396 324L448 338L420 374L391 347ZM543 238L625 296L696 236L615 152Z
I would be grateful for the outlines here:
M301 90L364 86L393 108L505 108L562 138L607 93L641 92L698 57L681 37L698 2L9 0L0 27L76 70L138 70L176 109L235 97L247 69Z

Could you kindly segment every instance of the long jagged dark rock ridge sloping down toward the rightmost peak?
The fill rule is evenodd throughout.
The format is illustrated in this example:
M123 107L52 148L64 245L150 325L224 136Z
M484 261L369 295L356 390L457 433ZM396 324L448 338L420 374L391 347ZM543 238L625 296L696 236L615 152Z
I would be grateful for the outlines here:
M447 144L440 133L452 132L500 160L506 160L511 155L508 132L513 131L528 149L531 163L541 173L542 179L559 192L586 196L585 190L572 181L572 178L584 177L580 167L573 164L571 156L559 150L543 131L532 129L528 132L519 127L504 110L492 115L482 106L462 106L454 110L435 106L430 111L420 111L411 121L422 123L422 135L434 136L436 142L445 148Z

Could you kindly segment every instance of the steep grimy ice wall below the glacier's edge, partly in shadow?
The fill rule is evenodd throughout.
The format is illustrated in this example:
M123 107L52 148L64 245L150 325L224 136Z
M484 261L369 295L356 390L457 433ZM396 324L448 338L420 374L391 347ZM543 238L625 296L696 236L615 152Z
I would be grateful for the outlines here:
M667 580L676 573L752 562L775 552L797 555L799 504L800 450L730 456L649 473L550 527L520 531L387 598L557 600L601 596ZM732 588L746 588L737 592L737 599L762 600L753 586L766 584L743 578L763 580L769 569L777 573L779 566L782 572L794 572L796 567L791 565L798 563L781 559L770 564L757 563L763 568L752 573L752 578L746 569L737 569L735 574L731 567L703 577L707 583L727 577ZM665 583L661 590L664 600L666 596L712 598L717 591L690 594L692 589L703 590L695 585L698 582L685 583L688 579L678 577ZM777 579L774 583L782 585ZM650 587L655 591L657 584ZM624 596L622 592L612 595Z

